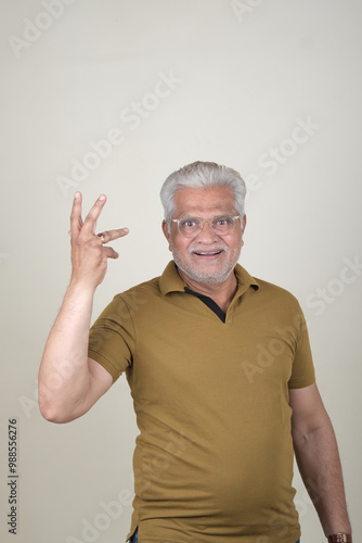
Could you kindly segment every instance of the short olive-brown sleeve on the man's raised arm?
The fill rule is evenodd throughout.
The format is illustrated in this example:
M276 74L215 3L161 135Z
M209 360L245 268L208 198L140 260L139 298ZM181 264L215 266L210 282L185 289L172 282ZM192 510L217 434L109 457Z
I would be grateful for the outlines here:
M103 366L115 382L132 365L134 327L126 300L117 294L89 332L88 356Z

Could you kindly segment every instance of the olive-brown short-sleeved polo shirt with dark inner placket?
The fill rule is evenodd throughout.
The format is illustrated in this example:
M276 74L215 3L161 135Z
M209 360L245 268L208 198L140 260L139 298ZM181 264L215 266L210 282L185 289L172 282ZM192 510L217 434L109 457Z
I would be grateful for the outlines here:
M89 356L114 380L126 371L133 397L140 543L300 536L288 389L314 382L308 331L289 292L240 265L235 275L224 319L170 262L91 328Z

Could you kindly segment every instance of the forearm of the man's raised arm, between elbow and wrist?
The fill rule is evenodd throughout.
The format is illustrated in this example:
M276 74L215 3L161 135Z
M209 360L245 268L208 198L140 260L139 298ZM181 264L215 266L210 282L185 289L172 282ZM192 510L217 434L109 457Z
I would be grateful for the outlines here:
M59 421L60 414L67 419L87 395L93 294L89 287L70 282L49 334L39 370L39 407L49 420Z

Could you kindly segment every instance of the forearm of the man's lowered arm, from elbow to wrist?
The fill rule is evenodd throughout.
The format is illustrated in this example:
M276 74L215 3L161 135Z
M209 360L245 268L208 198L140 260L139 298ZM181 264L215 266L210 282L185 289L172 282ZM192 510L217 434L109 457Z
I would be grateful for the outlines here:
M323 425L294 435L300 475L320 517L325 535L351 533L335 433L326 416Z

